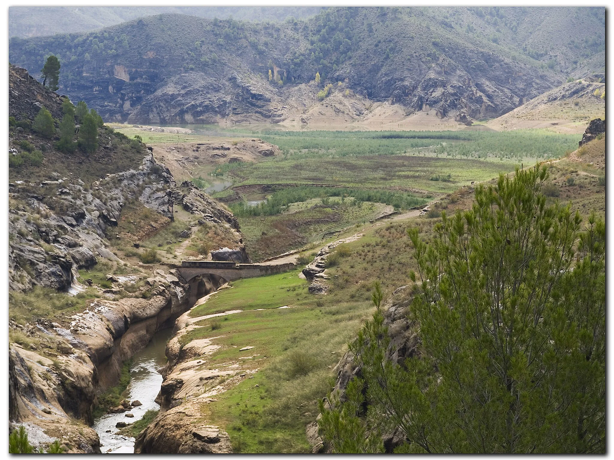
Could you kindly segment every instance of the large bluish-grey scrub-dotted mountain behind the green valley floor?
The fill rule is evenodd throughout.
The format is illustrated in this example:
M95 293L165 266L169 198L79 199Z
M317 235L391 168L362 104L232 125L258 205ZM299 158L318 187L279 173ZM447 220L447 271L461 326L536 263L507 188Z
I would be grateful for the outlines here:
M341 91L344 119L373 102L498 117L569 75L602 71L604 40L603 8L338 7L282 23L161 14L14 38L9 57L36 72L54 53L60 91L109 121L301 125Z

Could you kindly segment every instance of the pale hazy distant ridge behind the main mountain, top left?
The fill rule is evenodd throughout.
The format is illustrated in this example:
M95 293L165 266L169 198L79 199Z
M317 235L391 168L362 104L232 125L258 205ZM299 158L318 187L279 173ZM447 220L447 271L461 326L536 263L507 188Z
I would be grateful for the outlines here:
M160 13L183 13L211 19L233 17L246 21L283 21L289 17L313 16L321 9L319 6L14 6L9 8L9 37L85 32Z

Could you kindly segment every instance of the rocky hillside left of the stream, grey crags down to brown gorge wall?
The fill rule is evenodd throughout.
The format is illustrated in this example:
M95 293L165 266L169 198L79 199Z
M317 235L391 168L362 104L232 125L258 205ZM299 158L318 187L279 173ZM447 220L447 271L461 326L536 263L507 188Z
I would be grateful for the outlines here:
M125 207L146 209L152 228L171 225L179 207L230 235L229 245L241 235L228 210L190 184L177 186L136 140L102 127L91 155L56 151L53 137L25 121L37 104L58 115L59 96L14 67L9 88L9 113L25 127L10 128L9 155L39 149L43 157L9 169L9 421L25 426L35 447L60 440L65 451L96 453L92 410L122 363L171 326L193 296L217 287L122 260L117 229Z

